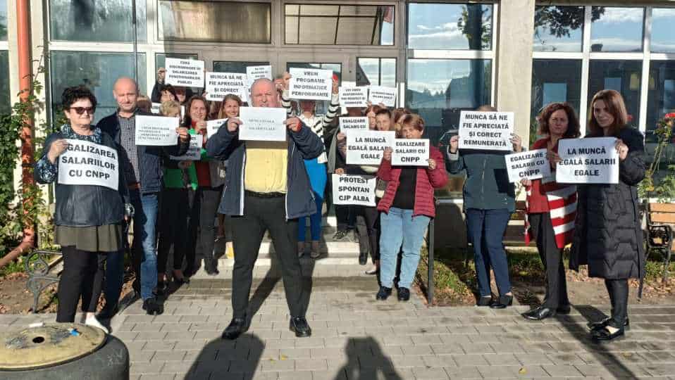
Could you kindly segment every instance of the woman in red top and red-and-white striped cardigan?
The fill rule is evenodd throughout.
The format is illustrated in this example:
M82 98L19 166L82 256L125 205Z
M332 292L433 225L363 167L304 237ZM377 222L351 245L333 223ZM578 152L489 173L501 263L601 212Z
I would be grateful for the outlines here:
M568 103L551 103L538 116L539 134L545 135L532 149L546 149L552 174L543 179L523 179L526 186L527 221L525 241L534 239L546 271L546 296L539 308L523 314L526 319L540 320L570 310L567 298L562 251L574 236L576 186L555 182L555 165L559 162L559 139L579 137L579 120Z

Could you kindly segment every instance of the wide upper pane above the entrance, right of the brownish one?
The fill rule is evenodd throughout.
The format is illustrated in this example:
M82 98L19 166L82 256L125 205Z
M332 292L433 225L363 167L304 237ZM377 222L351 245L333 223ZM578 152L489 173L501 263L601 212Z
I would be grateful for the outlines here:
M285 43L393 45L393 6L286 4Z

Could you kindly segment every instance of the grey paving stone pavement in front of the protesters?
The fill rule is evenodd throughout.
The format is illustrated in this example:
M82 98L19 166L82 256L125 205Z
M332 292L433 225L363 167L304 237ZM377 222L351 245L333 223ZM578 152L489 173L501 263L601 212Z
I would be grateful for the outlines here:
M165 312L136 302L113 318L130 351L131 378L147 379L675 379L675 305L631 307L631 331L610 343L588 339L588 319L607 305L576 305L543 322L505 310L427 308L413 294L376 301L373 277L309 281L310 338L288 329L282 281L257 279L251 328L237 341L230 279L193 279L168 296ZM254 313L253 313L254 312ZM54 315L0 315L0 329Z

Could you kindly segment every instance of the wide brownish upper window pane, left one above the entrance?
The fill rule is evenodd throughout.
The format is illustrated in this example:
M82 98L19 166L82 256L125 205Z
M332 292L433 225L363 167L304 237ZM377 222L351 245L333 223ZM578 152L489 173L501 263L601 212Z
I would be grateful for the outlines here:
M159 1L159 39L271 42L271 4L235 1Z

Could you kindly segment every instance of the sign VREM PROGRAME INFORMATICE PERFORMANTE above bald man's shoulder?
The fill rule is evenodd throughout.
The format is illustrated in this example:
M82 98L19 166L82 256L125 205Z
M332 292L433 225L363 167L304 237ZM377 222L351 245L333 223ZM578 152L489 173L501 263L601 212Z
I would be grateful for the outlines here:
M333 92L333 71L291 68L288 96L290 99L330 100Z

